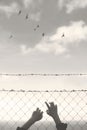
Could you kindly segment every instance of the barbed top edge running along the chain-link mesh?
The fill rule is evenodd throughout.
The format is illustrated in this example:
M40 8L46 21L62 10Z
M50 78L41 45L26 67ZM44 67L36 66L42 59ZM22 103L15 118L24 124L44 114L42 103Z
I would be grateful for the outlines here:
M87 92L87 89L81 89L81 90L15 90L15 89L1 89L0 92Z

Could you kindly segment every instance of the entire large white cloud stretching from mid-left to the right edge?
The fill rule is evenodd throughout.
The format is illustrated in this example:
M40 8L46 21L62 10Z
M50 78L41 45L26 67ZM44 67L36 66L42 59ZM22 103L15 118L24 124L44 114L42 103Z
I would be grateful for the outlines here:
M61 37L63 33L65 37ZM21 51L22 54L41 52L60 55L68 53L69 47L78 47L82 41L87 41L87 25L83 21L77 21L57 28L55 34L42 38L33 48L22 45Z

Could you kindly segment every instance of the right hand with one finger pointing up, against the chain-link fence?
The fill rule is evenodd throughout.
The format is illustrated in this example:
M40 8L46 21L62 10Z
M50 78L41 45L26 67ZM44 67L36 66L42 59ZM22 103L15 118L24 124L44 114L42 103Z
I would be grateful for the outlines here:
M55 117L55 116L57 116L57 105L54 105L54 103L53 102L51 102L51 103L47 103L47 102L45 102L46 103L46 106L47 106L47 108L48 108L48 110L46 111L47 112L47 114L49 115L49 116L51 116L51 117Z

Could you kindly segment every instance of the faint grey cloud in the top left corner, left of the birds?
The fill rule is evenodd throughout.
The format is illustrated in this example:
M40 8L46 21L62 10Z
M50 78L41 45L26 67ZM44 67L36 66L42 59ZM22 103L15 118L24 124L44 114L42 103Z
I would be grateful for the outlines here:
M14 2L10 5L0 5L0 11L2 13L5 13L6 16L9 18L12 14L17 13L18 4Z

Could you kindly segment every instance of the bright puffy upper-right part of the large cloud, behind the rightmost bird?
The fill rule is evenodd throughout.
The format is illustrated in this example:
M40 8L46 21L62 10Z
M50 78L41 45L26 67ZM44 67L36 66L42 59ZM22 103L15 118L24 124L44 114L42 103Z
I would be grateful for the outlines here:
M62 33L65 34L65 37L61 39ZM59 37L59 38L58 38ZM51 36L52 41L59 39L59 42L68 44L77 44L83 40L87 40L87 25L84 21L70 22L69 26L62 26L57 29L56 34Z

